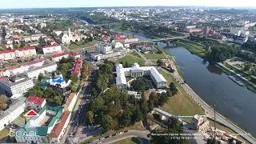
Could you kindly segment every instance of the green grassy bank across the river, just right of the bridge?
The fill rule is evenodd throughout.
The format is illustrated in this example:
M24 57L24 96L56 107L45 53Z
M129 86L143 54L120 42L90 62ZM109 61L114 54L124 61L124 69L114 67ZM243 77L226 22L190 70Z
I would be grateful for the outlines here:
M175 42L178 46L184 46L187 50L190 50L192 54L196 54L199 57L206 57L206 50L202 46L197 46L189 42Z

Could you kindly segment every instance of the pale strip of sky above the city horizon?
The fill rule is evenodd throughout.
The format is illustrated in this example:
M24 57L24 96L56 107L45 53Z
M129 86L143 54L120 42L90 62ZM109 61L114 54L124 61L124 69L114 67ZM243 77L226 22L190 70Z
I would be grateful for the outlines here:
M256 6L255 0L1 0L0 9L106 6Z

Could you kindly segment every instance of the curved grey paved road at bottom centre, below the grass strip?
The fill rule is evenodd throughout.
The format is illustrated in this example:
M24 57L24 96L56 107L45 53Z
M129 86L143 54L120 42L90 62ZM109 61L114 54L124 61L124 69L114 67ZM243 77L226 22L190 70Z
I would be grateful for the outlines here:
M133 138L134 137L134 138L138 138L138 140L141 143L147 144L147 143L150 143L149 138L147 138L147 134L150 134L150 132L147 131L147 130L144 130L144 131L129 130L127 133L116 135L114 137L106 138L106 139L103 139L103 140L100 140L100 141L96 140L93 143L102 142L104 144L109 144L109 143L121 141L122 139Z

